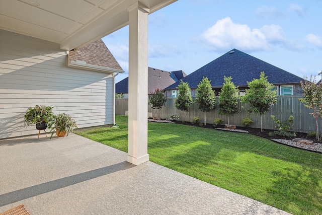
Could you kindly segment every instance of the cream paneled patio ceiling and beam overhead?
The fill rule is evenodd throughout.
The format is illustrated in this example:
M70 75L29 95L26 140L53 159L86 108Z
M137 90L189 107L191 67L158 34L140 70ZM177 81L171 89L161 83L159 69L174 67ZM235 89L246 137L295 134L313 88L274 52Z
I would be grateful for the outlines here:
M0 29L81 48L129 24L128 8L139 2L149 14L177 0L0 1Z

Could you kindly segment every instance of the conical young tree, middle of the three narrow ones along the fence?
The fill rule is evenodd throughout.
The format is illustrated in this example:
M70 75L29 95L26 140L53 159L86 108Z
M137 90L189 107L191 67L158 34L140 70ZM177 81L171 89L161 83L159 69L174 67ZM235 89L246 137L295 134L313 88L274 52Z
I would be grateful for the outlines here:
M211 111L215 108L216 97L215 93L212 91L210 84L211 81L208 78L203 77L202 81L198 84L197 88L197 98L199 110L204 112L204 124L206 125L206 112Z

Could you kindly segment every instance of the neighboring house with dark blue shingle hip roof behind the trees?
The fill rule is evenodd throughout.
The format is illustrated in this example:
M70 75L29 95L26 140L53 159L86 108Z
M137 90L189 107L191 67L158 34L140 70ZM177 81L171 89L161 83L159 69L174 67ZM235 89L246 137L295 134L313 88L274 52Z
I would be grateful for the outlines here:
M303 91L300 86L302 78L237 49L232 49L197 69L183 78L182 81L189 83L191 94L196 97L196 89L203 77L207 77L211 81L211 86L216 95L218 95L224 83L224 76L231 77L234 85L238 86L240 95L245 95L247 82L259 79L261 71L264 71L268 81L274 84L273 90L277 91L277 95L302 95ZM180 81L167 87L165 89L166 96L176 97L176 88L179 84Z

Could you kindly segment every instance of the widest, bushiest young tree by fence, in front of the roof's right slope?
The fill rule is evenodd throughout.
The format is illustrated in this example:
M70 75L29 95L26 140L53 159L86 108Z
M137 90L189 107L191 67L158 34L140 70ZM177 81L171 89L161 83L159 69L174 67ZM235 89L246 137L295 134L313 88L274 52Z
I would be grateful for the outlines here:
M250 107L248 112L260 113L261 115L261 132L263 131L262 115L271 109L272 104L277 102L276 91L272 91L274 87L265 77L264 71L261 72L260 79L254 79L247 82L249 89L246 89L245 96L241 97L241 101Z

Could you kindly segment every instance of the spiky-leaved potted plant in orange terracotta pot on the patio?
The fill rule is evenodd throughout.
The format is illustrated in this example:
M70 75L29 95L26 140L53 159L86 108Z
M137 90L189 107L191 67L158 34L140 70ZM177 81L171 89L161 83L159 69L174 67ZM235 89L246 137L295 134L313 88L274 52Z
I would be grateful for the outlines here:
M68 136L68 133L72 132L74 128L78 128L76 121L71 118L69 114L59 113L57 116L53 117L53 125L50 130L52 133L50 138L55 131L58 137Z

